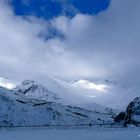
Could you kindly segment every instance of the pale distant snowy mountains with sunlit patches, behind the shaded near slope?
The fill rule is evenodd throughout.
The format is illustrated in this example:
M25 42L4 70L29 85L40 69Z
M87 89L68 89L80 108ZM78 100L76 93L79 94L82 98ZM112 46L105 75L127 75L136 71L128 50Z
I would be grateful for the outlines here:
M134 90L137 91L134 89L135 87L125 86L110 80L88 81L80 79L74 82L66 82L53 77L43 77L35 80L26 80L22 84L20 83L21 81L0 78L0 86L10 90L14 89L15 92L21 90L20 93L23 93L22 88L26 91L26 88L29 87L30 89L31 86L32 90L30 89L26 93L26 96L30 98L45 100L48 98L50 101L53 101L54 96L57 102L76 106L83 106L84 104L87 108L100 104L105 107L121 107L124 109L128 102L138 96L137 92L131 94ZM96 108L101 109L102 107Z

